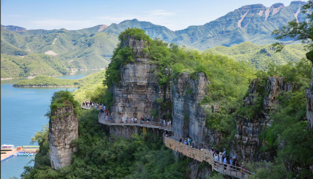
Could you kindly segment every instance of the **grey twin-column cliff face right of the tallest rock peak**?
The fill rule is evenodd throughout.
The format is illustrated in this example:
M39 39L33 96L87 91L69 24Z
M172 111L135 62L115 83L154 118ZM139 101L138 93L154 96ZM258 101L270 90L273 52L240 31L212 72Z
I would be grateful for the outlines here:
M204 110L198 103L203 99L206 85L210 82L203 73L195 76L181 73L171 83L175 140L189 136L197 146L204 140L205 132Z

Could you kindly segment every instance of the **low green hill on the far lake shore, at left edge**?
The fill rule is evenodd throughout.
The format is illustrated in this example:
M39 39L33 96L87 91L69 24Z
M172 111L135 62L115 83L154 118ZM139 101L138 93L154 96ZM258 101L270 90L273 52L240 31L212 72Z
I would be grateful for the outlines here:
M36 75L55 76L72 73L57 57L45 54L29 54L21 57L1 54L1 78L30 77Z

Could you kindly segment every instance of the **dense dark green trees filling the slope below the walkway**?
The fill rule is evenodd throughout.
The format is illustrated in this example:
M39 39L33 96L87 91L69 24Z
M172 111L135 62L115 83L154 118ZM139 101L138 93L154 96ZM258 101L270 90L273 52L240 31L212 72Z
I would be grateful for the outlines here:
M24 167L23 179L186 178L190 159L184 157L174 163L172 150L164 145L161 137L148 132L144 137L134 134L132 139L108 138L107 131L98 125L97 110L80 109L77 115L79 137L72 145L78 151L73 154L71 164L59 171L51 169L45 126L33 138L40 145L35 157L37 164Z

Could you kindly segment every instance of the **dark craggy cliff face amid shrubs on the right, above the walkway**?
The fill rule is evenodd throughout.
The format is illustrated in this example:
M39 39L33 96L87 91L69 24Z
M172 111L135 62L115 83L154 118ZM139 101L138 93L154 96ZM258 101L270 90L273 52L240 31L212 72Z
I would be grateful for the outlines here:
M259 133L264 126L271 125L269 111L275 108L277 104L276 95L281 91L287 92L297 87L297 83L284 82L282 77L268 77L254 79L250 85L249 95L244 98L244 106L254 106L257 97L263 99L262 111L256 112L252 118L238 116L237 134L230 142L231 153L239 160L259 161L271 160L274 154L261 153L258 149L261 147Z

